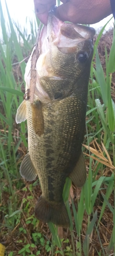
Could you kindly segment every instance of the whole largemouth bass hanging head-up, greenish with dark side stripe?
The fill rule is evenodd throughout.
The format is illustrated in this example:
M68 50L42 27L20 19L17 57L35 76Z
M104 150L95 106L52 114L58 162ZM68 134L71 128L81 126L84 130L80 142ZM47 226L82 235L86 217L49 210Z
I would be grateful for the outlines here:
M37 45L34 97L31 100L31 55L25 70L25 99L16 114L17 123L27 119L28 125L29 153L20 173L28 181L38 175L42 188L35 216L63 227L70 224L62 197L66 177L78 187L86 181L81 143L94 34L93 28L63 23L49 13Z

